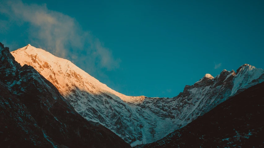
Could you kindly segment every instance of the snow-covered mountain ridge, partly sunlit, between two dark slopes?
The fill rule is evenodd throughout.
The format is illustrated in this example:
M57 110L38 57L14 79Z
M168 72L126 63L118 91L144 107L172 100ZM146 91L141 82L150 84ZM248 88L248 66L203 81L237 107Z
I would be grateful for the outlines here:
M235 72L206 74L173 98L125 96L70 61L27 45L11 54L49 80L85 119L99 122L132 146L157 141L229 97L264 81L264 70L244 64Z

